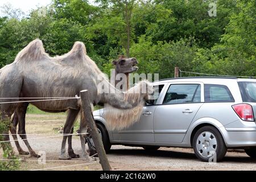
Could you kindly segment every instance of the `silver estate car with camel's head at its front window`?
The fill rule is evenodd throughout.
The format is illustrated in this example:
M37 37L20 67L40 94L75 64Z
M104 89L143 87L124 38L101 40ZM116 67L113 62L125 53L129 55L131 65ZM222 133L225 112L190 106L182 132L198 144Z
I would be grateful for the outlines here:
M152 84L158 96L127 129L107 129L103 111L93 112L106 152L113 144L193 147L208 162L222 160L227 148L243 148L256 158L256 79L184 77Z

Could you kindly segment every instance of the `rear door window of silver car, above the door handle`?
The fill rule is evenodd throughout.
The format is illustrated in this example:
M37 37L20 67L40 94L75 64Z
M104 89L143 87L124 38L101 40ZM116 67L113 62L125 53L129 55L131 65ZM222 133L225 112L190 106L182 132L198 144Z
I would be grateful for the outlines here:
M200 84L170 85L163 100L163 104L182 104L193 102L201 102Z

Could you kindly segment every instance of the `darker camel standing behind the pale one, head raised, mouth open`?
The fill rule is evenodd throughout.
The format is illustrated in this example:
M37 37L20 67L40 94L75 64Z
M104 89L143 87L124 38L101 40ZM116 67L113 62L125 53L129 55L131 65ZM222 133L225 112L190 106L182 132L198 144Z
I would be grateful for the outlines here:
M131 57L130 59L125 57L125 56L119 56L117 60L114 60L113 65L115 66L115 75L119 74L119 73L123 73L123 74L129 74L132 72L137 71L138 67L135 67L135 65L138 64L137 59L135 59L134 57ZM128 81L128 76L127 76L127 83ZM117 82L115 82L115 84L117 84ZM25 129L25 118L26 118L26 111L27 111L27 107L28 107L28 102L24 102L20 107L19 110L16 110L14 112L14 116L12 119L12 123L13 123L13 127L11 127L10 129L10 133L13 135L13 138L15 140L15 145L16 148L19 152L19 155L28 155L30 154L31 157L36 157L39 158L40 156L36 154L36 152L31 148L30 144L28 143L27 140L27 135L26 135L26 129ZM20 114L20 121L18 121L18 115ZM16 127L19 125L19 130L18 130L18 134L20 136L20 138L23 139L23 142L26 144L28 151L23 151L22 147L20 147L19 141L18 141L18 137L17 137L17 132L16 132ZM73 127L71 130L71 134L73 134ZM94 154L96 154L96 150L94 150L94 148L92 146L90 146L90 144L88 143L88 153L89 156L92 156ZM75 154L72 148L72 135L68 136L68 155L70 158L79 158L80 156Z

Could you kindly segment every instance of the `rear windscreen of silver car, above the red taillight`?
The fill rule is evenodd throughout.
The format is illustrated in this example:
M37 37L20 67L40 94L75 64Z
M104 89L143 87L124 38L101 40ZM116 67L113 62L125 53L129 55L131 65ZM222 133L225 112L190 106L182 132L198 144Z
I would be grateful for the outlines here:
M256 102L256 82L238 82L243 102Z

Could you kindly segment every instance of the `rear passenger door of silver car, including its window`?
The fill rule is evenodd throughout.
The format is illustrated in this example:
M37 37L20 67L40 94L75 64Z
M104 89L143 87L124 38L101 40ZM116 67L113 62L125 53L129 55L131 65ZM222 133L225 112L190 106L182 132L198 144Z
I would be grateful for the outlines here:
M201 82L175 82L166 86L154 113L155 142L183 141L189 125L203 105L202 89Z

